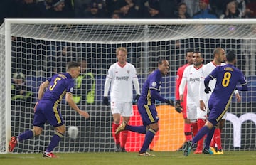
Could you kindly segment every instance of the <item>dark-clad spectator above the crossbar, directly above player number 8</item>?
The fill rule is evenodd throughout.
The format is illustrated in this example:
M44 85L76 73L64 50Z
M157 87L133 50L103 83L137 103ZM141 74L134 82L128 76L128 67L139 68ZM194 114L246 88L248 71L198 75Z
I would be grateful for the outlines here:
M228 4L226 4L225 11L223 11L223 14L220 15L220 18L242 18L242 11L238 9L235 1L229 1Z

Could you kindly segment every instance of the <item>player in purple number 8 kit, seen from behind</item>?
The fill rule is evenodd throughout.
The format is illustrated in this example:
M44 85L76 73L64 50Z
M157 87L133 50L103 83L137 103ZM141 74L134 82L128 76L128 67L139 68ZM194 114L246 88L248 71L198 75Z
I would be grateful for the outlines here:
M226 58L226 65L215 68L204 80L206 93L211 91L209 87L210 80L215 78L217 80L208 102L210 113L205 126L199 130L198 134L193 137L192 141L186 142L186 147L183 153L184 156L188 156L193 144L198 142L198 140L200 140L206 134L207 137L205 149L209 150L210 140L213 138L213 133L215 130L214 126L220 122L220 119L222 119L225 112L227 112L234 90L248 90L245 76L238 68L235 68L234 66L236 61L235 53L232 51L228 52ZM241 86L237 86L238 82Z

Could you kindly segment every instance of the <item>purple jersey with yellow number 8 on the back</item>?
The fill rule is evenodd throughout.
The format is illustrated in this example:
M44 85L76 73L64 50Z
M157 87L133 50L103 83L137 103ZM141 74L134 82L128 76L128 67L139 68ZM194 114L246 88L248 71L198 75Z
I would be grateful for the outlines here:
M215 89L210 96L210 100L215 100L216 103L227 103L238 82L241 85L247 83L242 72L230 64L215 68L210 75L217 79Z

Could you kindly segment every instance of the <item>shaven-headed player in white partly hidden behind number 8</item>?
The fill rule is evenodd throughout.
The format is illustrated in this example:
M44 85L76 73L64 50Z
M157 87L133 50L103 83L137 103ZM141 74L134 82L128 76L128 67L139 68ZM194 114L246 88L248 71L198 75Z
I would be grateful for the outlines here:
M208 94L206 94L206 92L204 92L205 86L204 86L203 81L206 78L206 76L209 75L217 66L225 65L225 63L222 63L224 60L225 60L225 50L223 48L215 48L215 50L213 51L213 61L211 61L210 63L207 63L206 65L203 66L203 73L202 73L202 77L201 77L200 91L199 91L199 93L200 93L199 100L200 100L201 110L204 110L204 111L208 110L208 100L211 95L211 92L209 92ZM209 82L209 87L212 91L215 88L215 84L216 84L216 80L211 80ZM241 99L240 99L238 90L235 90L235 97L236 97L237 101L240 102ZM225 115L223 116L223 119L220 120L220 122L217 124L217 128L215 129L215 133L214 133L212 142L210 144L210 149L211 149L211 151L213 151L213 154L223 154L223 149L221 146L220 132L221 132L221 129L224 127L224 122L225 122L226 116L227 116L227 113L225 113ZM207 142L206 142L206 144L207 144ZM215 150L215 148L214 148L215 144L217 144L217 147L218 147L217 150Z

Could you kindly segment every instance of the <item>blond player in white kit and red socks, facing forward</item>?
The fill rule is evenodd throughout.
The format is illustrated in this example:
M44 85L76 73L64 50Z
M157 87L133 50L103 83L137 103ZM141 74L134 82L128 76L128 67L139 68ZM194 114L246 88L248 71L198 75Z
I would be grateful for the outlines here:
M127 141L128 131L120 134L114 134L114 132L119 127L121 116L122 120L128 123L130 117L133 115L132 85L134 85L137 94L135 100L138 100L140 95L139 81L134 65L127 62L127 49L119 47L116 53L117 63L110 66L105 80L103 103L105 105L109 104L107 96L110 89L110 106L114 119L112 123L112 135L116 144L114 151L126 152L124 147ZM120 142L120 136L122 136L122 142Z

